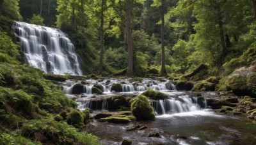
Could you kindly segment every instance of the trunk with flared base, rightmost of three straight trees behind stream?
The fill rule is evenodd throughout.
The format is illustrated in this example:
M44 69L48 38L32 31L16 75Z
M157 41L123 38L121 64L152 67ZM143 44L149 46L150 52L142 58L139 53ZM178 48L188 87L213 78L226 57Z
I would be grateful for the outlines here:
M161 50L162 50L162 55L161 55L161 71L160 71L160 76L166 76L167 72L165 69L165 59L164 59L164 0L162 0L162 6L161 6Z

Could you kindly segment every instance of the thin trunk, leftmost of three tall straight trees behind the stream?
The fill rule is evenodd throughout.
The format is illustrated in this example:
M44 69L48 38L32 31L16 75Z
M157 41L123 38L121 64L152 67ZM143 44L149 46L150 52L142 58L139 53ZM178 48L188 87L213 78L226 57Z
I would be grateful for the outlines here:
M101 0L101 11L100 11L100 67L99 67L99 74L102 74L102 67L103 67L103 47L104 47L104 36L103 36L103 17L104 17L104 11L103 11L103 6L104 6L104 0Z

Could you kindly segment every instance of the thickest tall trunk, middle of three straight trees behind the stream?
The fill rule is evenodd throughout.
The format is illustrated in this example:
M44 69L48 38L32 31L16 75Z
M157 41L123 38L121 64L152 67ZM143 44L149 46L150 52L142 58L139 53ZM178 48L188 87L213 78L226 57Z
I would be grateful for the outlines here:
M132 48L132 28L131 28L131 1L125 0L126 10L126 35L127 35L127 47L128 47L128 70L127 76L134 76L134 64L133 64L133 48Z

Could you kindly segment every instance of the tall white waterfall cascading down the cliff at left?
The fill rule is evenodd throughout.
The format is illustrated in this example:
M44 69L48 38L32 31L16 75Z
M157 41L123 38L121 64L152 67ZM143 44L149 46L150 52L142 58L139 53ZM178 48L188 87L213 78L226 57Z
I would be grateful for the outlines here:
M82 75L74 45L58 29L15 22L13 31L29 66L54 74Z

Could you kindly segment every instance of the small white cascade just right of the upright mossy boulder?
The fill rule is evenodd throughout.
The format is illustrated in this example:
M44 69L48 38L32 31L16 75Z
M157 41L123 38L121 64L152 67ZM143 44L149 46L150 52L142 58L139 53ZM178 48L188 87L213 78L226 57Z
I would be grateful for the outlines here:
M200 110L200 106L193 102L193 99L189 98L188 95L165 100L150 100L150 104L154 107L156 114L174 114Z

